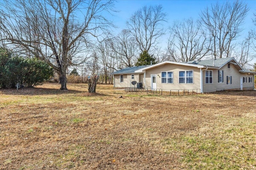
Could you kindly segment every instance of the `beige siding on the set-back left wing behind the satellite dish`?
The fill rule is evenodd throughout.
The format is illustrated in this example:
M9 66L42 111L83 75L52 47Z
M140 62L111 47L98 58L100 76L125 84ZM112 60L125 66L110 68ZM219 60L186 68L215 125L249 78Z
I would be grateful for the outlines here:
M120 82L120 75L124 76L124 82ZM143 74L134 74L134 79L132 79L132 74L114 75L114 87L134 87L132 85L132 81L139 82L141 76L143 80ZM135 85L135 87L137 87L137 84Z

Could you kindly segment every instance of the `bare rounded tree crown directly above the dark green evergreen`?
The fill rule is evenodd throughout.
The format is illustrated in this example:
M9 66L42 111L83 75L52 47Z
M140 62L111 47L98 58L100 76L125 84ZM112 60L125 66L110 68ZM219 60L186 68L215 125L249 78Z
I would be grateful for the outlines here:
M166 14L162 6L144 6L135 12L126 22L128 30L136 39L141 51L149 51L154 48L159 41L159 37L164 35L165 30L162 25L166 22Z

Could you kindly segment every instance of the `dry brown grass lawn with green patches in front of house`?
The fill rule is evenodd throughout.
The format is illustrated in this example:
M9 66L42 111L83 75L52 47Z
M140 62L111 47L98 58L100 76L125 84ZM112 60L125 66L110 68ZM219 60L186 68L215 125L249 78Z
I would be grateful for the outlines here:
M59 88L0 90L1 170L256 169L256 91Z

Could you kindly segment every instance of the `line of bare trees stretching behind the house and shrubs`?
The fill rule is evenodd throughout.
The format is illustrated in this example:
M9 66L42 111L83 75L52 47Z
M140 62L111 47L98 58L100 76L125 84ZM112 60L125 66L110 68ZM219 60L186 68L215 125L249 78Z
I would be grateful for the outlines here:
M239 0L216 2L199 18L177 20L168 28L163 26L167 14L161 5L144 6L117 35L109 31L115 25L106 17L116 13L112 0L4 0L0 5L3 46L48 63L58 73L62 90L67 90L72 68L82 77L98 75L94 81L112 83L115 70L151 61L235 57L246 67L256 58L255 31L242 35L249 8ZM256 25L255 14L253 18Z

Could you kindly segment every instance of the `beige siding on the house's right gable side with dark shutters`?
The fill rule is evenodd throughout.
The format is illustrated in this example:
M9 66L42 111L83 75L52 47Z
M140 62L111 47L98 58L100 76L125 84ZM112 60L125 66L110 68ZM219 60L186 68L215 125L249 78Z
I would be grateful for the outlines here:
M234 66L234 64L230 63L230 68L228 68L228 64L224 65L219 70L223 70L223 82L218 82L218 69L212 70L212 84L205 83L205 70L203 70L203 92L215 92L218 90L231 90L231 89L240 89L240 77L247 76L247 83L243 83L243 88L245 87L253 87L253 83L249 83L250 74L240 73L239 70ZM232 84L227 84L227 76L232 76L231 82Z

